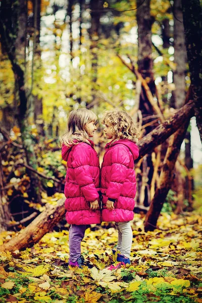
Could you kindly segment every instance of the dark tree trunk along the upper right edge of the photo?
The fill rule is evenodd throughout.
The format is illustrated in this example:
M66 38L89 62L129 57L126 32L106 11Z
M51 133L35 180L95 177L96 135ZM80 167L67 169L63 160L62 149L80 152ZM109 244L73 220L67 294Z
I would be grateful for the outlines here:
M182 12L187 58L195 103L194 113L202 142L202 9L199 0L183 0Z

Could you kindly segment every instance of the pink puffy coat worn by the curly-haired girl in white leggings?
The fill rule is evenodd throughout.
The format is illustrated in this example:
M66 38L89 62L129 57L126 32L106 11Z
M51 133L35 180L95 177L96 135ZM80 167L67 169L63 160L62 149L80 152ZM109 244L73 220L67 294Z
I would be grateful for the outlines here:
M137 145L119 139L106 145L101 168L102 221L127 222L133 219L136 194L134 160L139 155ZM107 209L108 198L115 199L114 210Z

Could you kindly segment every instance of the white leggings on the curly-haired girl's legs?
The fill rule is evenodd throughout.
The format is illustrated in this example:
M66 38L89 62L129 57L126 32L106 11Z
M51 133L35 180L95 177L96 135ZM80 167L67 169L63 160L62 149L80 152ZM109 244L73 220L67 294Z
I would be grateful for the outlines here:
M118 222L115 226L118 230L117 250L120 250L121 255L130 258L133 237L130 222Z

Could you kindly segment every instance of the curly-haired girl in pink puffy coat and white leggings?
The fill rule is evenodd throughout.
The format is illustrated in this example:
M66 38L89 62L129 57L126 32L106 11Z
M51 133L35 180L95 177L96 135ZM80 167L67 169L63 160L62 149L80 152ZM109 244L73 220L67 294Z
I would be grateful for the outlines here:
M107 139L101 168L100 190L102 192L102 221L115 222L118 229L117 262L108 269L113 270L130 264L136 179L134 160L139 155L136 142L139 131L132 118L124 111L109 111L102 121Z

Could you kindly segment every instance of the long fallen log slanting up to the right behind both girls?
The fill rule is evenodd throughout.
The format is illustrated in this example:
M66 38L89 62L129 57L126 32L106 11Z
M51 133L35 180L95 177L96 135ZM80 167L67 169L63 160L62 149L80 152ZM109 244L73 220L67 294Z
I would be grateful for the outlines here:
M163 124L155 128L144 138L139 140L139 158L150 153L156 146L162 144L171 134L183 125L184 121L189 121L193 115L193 102L189 101L177 113L170 117ZM37 218L35 218L27 227L17 233L9 242L0 246L0 251L14 251L31 247L37 243L47 232L49 232L65 215L65 197L58 201L56 206L47 206Z

